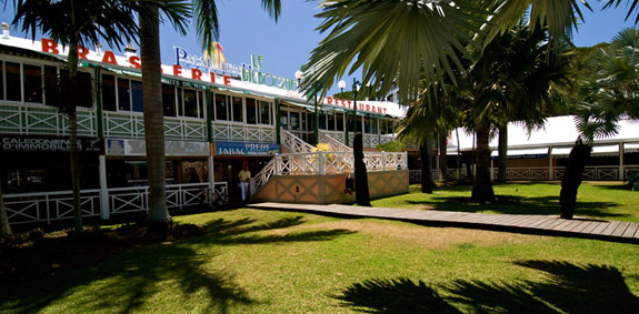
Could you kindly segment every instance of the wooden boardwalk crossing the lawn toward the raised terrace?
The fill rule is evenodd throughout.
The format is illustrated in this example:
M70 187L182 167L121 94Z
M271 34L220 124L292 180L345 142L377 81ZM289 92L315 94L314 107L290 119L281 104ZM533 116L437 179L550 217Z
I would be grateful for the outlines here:
M639 223L596 219L562 220L559 216L480 214L349 205L254 203L253 209L299 211L342 217L398 220L431 226L456 226L529 234L597 239L639 244Z

